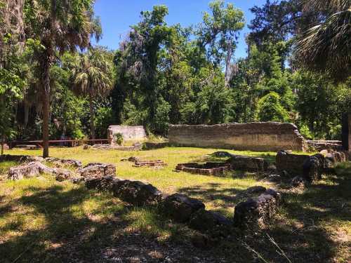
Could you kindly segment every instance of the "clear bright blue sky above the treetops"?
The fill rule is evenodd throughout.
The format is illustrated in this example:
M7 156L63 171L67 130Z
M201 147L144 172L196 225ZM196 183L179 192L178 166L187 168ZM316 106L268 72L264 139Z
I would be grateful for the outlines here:
M234 0L227 1L244 11L246 26L240 33L239 45L235 57L246 56L244 35L249 32L247 24L253 18L249 8L262 6L266 0ZM168 25L180 23L183 27L201 22L202 12L208 11L210 0L96 0L95 15L100 16L102 23L102 39L99 45L116 49L119 41L126 36L131 25L140 21L140 11L152 10L152 6L164 4L168 6L166 22Z

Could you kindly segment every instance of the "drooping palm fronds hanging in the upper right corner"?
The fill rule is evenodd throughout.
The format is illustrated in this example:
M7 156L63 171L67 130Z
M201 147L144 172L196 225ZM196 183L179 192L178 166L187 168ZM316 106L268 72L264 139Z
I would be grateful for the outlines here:
M324 19L298 38L298 64L328 74L336 82L347 79L351 72L350 0L310 0L305 4L305 8L321 13Z

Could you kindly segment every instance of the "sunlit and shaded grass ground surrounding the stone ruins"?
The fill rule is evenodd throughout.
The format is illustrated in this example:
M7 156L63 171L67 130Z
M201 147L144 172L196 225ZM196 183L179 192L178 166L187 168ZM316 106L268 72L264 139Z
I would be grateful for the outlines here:
M53 148L51 156L84 164L115 163L117 177L150 182L165 193L188 194L204 201L206 209L232 218L239 201L235 196L268 182L241 172L226 177L173 172L177 163L206 161L206 154L217 150L170 147L132 152L78 147ZM230 152L263 156L267 161L274 161L275 156ZM11 150L6 154L41 152ZM120 161L129 156L161 159L168 166L133 168L132 163ZM0 173L14 164L0 163ZM233 230L230 238L204 251L191 245L194 231L161 217L157 208L131 207L108 193L56 182L50 175L1 180L0 262L348 262L350 189L350 163L343 163L337 175L324 175L308 189L280 189L284 205L271 227L246 236Z

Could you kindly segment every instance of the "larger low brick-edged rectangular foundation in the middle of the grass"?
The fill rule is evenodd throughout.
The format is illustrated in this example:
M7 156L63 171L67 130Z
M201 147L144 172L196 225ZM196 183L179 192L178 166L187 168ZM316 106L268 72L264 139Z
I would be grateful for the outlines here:
M230 170L229 163L206 162L206 163L179 163L176 172L196 173L199 175L223 175Z

